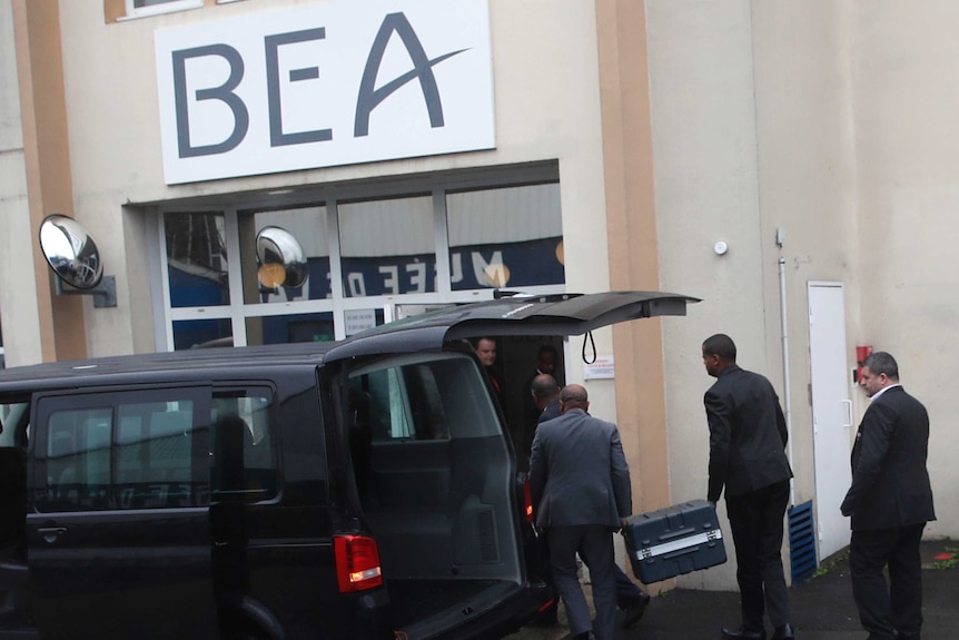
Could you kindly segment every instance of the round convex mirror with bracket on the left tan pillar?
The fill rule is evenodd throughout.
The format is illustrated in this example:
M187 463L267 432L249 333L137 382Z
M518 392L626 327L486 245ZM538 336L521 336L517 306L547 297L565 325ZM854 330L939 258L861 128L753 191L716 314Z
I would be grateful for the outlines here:
M95 307L117 306L116 279L103 276L97 244L80 223L60 214L47 216L40 223L40 249L57 276L58 296L90 295Z

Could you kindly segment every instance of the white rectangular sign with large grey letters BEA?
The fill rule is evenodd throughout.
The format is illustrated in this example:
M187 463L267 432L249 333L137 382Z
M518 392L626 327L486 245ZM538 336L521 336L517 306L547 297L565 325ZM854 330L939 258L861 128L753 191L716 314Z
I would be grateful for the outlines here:
M338 0L156 32L167 184L495 146L486 0Z

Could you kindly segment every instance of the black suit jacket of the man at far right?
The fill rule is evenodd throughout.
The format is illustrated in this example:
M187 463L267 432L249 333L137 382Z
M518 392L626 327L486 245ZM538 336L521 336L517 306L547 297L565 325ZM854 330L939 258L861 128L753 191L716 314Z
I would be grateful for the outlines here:
M852 486L842 512L854 531L893 529L936 520L926 470L929 414L901 386L874 398L856 433Z

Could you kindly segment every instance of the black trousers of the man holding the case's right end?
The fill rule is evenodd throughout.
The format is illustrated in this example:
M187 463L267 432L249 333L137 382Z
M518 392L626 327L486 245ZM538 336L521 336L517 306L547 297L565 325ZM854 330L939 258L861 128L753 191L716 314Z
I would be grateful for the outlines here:
M763 628L764 611L773 628L790 621L781 555L788 502L789 480L725 500L735 545L742 623L750 629Z

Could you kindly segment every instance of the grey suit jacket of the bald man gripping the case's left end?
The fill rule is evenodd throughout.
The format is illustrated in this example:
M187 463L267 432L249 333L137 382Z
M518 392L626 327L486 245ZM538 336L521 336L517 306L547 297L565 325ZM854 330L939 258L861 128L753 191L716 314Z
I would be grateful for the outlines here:
M537 526L619 529L632 514L632 485L616 425L581 408L541 423L533 439L530 491Z

